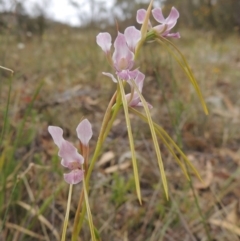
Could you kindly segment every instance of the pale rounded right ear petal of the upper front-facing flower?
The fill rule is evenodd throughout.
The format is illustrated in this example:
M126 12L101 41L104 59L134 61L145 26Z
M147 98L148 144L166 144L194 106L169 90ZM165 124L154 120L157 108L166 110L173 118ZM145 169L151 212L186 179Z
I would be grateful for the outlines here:
M125 29L124 36L129 49L134 52L138 41L141 39L141 31L131 26Z

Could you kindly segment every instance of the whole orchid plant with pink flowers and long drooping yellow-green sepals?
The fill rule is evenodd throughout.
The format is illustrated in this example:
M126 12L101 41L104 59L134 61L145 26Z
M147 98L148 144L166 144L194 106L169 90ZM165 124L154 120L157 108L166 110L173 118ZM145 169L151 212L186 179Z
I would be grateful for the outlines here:
M140 204L142 202L141 188L129 112L132 112L135 115L139 116L144 122L147 122L149 125L161 174L163 189L167 198L168 185L158 144L158 138L174 156L187 178L189 178L189 176L186 166L190 167L190 169L196 174L196 176L201 179L198 171L194 168L194 166L188 160L186 155L181 151L181 149L177 146L177 144L171 139L171 137L166 133L166 131L164 131L161 126L153 122L150 114L150 110L153 107L145 100L142 95L145 75L140 71L140 67L136 65L137 56L145 42L156 42L163 45L166 50L169 51L176 59L178 64L182 67L183 71L186 73L187 77L193 84L200 98L205 113L208 113L201 91L187 64L186 59L178 50L178 48L171 41L168 40L168 38L180 38L180 34L178 32L171 33L172 28L176 25L179 18L179 12L176 8L173 7L169 16L167 18L164 18L161 8L155 8L152 10L152 3L153 1L150 2L147 10L140 9L137 11L137 22L142 25L140 30L138 30L134 26L130 26L125 29L124 33L118 32L117 37L113 43L113 52L112 37L109 33L99 33L96 37L97 44L103 50L108 63L113 69L113 73L103 72L103 75L110 77L111 80L116 83L116 92L113 94L113 97L110 100L106 109L102 122L102 127L98 136L98 142L90 162L88 161L89 141L92 137L92 127L87 119L82 120L76 129L77 136L80 141L79 151L81 154L78 153L77 148L75 148L73 144L63 138L63 130L60 127L48 127L48 131L51 134L54 143L59 148L58 155L62 159L62 166L70 170L69 173L64 174L64 180L68 184L70 184L70 189L62 240L65 240L66 235L69 208L71 203L72 185L76 185L81 181L83 182L83 190L79 198L79 203L75 215L72 241L77 240L86 212L88 215L88 222L92 240L99 240L97 229L93 225L91 210L88 202L89 180L94 165L98 160L104 140L106 139L109 131L111 130L111 127L117 117L119 110L122 108L124 110L126 125L128 127L129 144L132 153L133 174L136 185L136 193ZM159 23L157 26L152 27L152 24L149 20L151 13L155 20ZM126 84L130 86L130 93L125 93ZM140 112L137 107L142 108L143 111Z

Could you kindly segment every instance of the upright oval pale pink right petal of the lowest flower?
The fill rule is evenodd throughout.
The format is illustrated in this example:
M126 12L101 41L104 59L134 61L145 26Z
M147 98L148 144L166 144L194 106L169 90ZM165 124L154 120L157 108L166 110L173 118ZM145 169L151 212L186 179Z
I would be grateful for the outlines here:
M88 142L92 138L91 123L87 119L82 120L77 126L76 131L77 131L78 139L81 141L83 145L87 146Z

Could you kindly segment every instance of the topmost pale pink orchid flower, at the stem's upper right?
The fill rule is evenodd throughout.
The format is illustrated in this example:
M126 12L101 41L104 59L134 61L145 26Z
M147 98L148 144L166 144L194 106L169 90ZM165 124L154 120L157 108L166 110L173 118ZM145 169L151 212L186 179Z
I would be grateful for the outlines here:
M177 19L179 18L179 12L175 7L172 7L169 16L165 19L161 8L154 8L152 10L152 15L155 20L160 23L159 25L152 28L151 22L148 22L149 29L155 30L159 35L163 37L180 38L180 34L170 33L170 30L176 25ZM139 9L137 11L137 22L142 24L146 16L145 9Z

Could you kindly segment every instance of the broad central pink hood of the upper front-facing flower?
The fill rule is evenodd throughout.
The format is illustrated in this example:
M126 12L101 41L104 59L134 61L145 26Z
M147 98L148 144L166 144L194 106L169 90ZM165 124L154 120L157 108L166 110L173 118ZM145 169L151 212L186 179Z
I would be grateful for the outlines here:
M134 54L128 48L125 36L122 33L118 33L114 41L114 47L115 50L112 59L117 71L131 69L133 66Z

